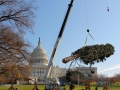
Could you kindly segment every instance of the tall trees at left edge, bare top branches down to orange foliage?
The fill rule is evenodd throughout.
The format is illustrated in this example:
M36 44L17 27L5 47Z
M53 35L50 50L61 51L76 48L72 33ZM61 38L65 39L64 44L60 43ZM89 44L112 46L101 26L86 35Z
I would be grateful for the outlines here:
M18 78L29 74L31 44L24 40L33 33L33 1L0 0L0 75Z

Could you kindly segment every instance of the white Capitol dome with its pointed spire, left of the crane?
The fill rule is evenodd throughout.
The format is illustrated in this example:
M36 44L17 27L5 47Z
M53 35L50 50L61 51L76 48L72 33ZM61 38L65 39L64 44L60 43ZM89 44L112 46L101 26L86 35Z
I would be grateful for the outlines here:
M48 65L48 59L45 50L42 48L40 38L38 46L32 52L33 65Z

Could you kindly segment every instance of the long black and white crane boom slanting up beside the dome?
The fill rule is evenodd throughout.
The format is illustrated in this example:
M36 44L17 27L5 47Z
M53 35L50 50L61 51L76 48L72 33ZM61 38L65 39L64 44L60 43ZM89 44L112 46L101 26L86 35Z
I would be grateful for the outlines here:
M45 72L45 76L44 76L45 79L47 79L47 77L49 76L49 74L50 74L50 72L51 72L52 65L53 65L53 61L54 61L54 57L55 57L55 54L56 54L56 50L57 50L58 45L59 45L59 42L60 42L60 40L61 40L61 38L62 38L62 35L63 35L63 32L64 32L64 28L65 28L65 25L66 25L66 22L67 22L67 19L68 19L68 16L69 16L69 13L70 13L70 10L71 10L73 1L74 1L74 0L71 0L70 4L68 5L67 13L66 13L65 18L64 18L64 21L63 21L63 23L62 23L62 26L61 26L59 35L58 35L57 40L56 40L56 43L55 43L55 45L54 45L54 49L53 49L51 58L50 58L49 63L48 63L48 67L47 67L46 72Z

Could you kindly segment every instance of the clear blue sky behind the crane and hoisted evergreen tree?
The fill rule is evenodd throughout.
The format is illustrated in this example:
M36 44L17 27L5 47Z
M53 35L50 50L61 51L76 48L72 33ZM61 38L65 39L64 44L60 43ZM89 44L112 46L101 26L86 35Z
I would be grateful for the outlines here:
M25 39L33 45L31 52L37 46L40 37L41 45L46 51L48 60L50 59L70 1L36 0L34 2L37 6L34 34L27 32L25 35ZM62 59L85 45L87 29L90 30L95 41L88 36L86 45L110 43L115 47L114 55L105 62L93 65L97 67L98 74L113 76L120 73L120 0L74 0L54 58L54 66L69 67L70 62L64 64Z

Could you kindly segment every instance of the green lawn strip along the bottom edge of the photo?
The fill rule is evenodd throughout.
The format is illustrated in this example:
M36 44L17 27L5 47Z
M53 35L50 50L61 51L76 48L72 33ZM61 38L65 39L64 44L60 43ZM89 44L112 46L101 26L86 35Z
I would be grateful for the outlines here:
M0 86L0 90L8 90L10 86ZM34 87L34 85L14 85L14 88L17 88L18 90L32 90ZM44 90L45 85L38 85L39 90ZM69 90L69 86L66 85L66 90ZM95 90L96 86L90 86L91 90ZM61 87L63 88L63 87ZM78 86L75 85L75 89L74 90L82 90L85 89L85 86ZM103 87L98 87L98 90L103 90ZM112 86L111 90L120 90L120 86Z

